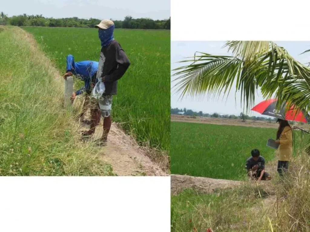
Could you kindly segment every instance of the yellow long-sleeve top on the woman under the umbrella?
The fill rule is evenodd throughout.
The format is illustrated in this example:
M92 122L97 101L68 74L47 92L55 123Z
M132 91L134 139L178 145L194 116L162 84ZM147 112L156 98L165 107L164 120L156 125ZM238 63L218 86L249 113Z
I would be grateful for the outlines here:
M279 140L277 156L280 161L289 161L293 157L293 133L289 126L284 127Z

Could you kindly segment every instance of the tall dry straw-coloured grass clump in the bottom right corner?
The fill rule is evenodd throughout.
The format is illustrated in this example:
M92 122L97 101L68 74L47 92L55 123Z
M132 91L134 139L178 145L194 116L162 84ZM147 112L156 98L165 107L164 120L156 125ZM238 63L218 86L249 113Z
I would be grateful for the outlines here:
M302 153L289 173L275 185L278 202L271 224L277 231L310 231L310 157ZM278 207L277 207L278 206Z

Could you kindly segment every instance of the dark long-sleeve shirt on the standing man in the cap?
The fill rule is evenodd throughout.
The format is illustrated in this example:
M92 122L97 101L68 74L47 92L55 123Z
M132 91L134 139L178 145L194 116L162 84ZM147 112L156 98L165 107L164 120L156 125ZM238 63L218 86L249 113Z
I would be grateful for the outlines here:
M103 95L117 94L117 80L125 74L129 65L130 61L117 41L101 48L97 78L104 77Z

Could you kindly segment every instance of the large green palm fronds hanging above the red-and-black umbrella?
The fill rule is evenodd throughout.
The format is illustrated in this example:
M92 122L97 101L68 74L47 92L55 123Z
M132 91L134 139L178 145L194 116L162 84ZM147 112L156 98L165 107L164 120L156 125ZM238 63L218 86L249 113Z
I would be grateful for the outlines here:
M286 49L271 41L229 41L226 46L235 56L201 53L181 61L191 62L174 70L174 75L178 76L174 88L182 93L182 97L197 97L206 92L228 94L236 82L236 89L241 92L241 104L247 111L254 105L258 88L266 98L279 97L279 105L284 102L299 107L307 105L299 91L310 86L310 68L296 61ZM287 97L283 97L283 91Z

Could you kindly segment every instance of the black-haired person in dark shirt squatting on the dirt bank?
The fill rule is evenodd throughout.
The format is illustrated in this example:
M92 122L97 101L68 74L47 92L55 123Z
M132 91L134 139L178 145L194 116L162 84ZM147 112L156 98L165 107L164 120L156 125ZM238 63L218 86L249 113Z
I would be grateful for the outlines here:
M246 161L246 170L250 178L260 180L270 180L271 176L265 172L265 159L260 156L259 150L253 149L251 157Z

